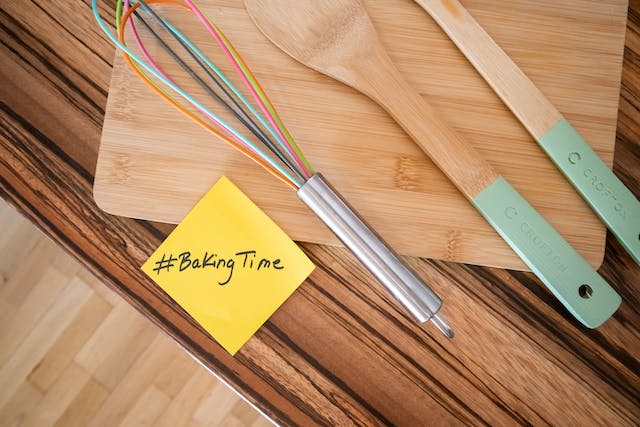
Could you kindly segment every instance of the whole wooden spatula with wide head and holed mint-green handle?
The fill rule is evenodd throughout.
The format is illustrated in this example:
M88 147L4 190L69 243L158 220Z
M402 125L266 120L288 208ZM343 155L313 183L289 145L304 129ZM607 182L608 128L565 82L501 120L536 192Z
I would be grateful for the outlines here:
M245 5L286 53L385 108L578 320L595 328L616 311L611 286L403 79L359 1Z

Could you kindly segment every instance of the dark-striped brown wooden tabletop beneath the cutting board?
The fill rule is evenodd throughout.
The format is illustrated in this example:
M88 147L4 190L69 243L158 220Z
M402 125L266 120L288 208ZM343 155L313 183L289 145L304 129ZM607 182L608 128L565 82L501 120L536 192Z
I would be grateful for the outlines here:
M349 252L308 244L316 271L229 356L139 269L172 226L114 217L93 201L114 48L87 3L2 3L2 197L266 415L305 425L640 424L640 267L611 236L600 272L624 302L597 330L532 274L411 259L445 301L456 330L447 341L414 325ZM638 1L627 31L614 170L640 195Z

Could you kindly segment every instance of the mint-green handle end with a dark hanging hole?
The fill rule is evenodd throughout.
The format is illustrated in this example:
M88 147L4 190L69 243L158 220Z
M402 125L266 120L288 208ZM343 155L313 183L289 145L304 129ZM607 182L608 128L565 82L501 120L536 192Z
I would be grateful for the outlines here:
M503 177L472 203L585 326L597 328L618 309L620 295Z

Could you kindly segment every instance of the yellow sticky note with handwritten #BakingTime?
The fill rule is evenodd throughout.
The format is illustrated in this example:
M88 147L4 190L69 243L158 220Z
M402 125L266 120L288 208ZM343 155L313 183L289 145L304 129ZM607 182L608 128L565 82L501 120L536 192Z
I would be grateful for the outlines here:
M226 177L142 266L231 354L313 269L300 248Z

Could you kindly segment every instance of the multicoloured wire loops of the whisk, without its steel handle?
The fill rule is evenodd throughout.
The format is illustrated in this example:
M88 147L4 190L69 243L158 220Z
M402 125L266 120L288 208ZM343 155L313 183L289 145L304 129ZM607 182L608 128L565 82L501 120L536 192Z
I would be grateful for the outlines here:
M181 7L194 13L225 53L234 70L238 73L258 105L261 113L247 101L238 88L231 83L198 47L171 23L157 14L150 7L151 4ZM183 3L176 0L139 0L134 4L130 4L129 0L119 0L116 6L117 37L108 30L106 24L100 18L97 11L97 0L92 0L92 7L96 20L102 27L102 30L122 50L125 60L134 73L165 101L218 138L238 149L294 189L300 188L300 186L313 175L313 169L309 162L291 137L291 134L287 131L273 104L269 101L269 98L246 65L244 59L229 42L220 28L213 24L192 1L185 0ZM145 16L151 18L165 35L169 35L171 39L177 42L182 50L190 57L191 61L204 71L208 80L213 82L215 89L209 85L203 77L189 67L186 61L158 34L158 31L142 17L139 13L140 11L143 11ZM221 117L211 112L202 103L187 94L187 92L154 61L142 42L136 24L132 19L133 16L135 16L136 20L153 36L164 51L181 66L186 74L195 80L210 96L224 106L238 122L249 130L255 138L262 143L263 148L253 143ZM131 30L131 35L144 59L136 55L127 46L125 41L125 31L127 28ZM155 78L156 81L168 87L171 92L183 98L189 105L198 110L206 120L203 120L203 118L191 112L152 78ZM211 125L211 122L213 122L214 126Z

